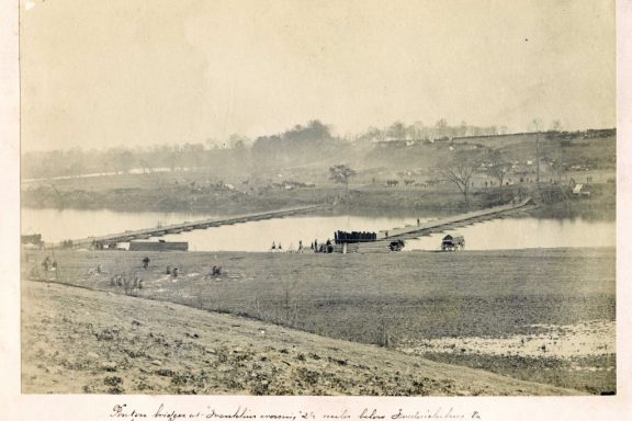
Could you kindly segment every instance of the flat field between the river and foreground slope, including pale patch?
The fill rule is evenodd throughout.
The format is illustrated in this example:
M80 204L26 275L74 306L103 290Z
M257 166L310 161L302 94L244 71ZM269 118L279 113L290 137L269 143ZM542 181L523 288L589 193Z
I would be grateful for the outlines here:
M616 391L614 254L27 251L23 270L26 278L247 316L600 394ZM57 271L44 272L46 255ZM179 269L177 277L168 265ZM211 275L214 265L221 275ZM127 291L116 275L125 275ZM142 288L133 288L134 278Z

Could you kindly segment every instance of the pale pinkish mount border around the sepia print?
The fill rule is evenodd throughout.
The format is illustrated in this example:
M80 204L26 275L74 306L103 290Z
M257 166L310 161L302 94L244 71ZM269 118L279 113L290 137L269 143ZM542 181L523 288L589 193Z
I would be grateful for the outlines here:
M49 0L54 1L54 0ZM321 413L348 409L359 413L375 408L385 413L398 409L415 412L452 409L453 414L482 420L623 420L632 419L630 355L632 323L631 238L632 202L632 1L617 2L617 377L616 396L608 397L241 397L241 396L104 396L22 395L20 378L20 89L18 1L1 0L0 9L0 164L3 169L3 206L0 220L0 418L5 420L112 420L115 405L151 412L160 403L174 410L216 408L230 412L247 407L253 412L298 411ZM319 412L320 411L320 412ZM463 419L465 419L463 418ZM153 419L153 418L151 418ZM318 419L318 418L316 418ZM357 418L351 418L354 420ZM436 418L437 419L437 418Z

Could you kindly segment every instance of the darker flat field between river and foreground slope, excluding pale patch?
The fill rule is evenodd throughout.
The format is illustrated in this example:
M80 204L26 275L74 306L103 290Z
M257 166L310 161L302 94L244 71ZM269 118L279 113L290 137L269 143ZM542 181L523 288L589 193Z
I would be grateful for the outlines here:
M38 270L47 252L29 252ZM151 259L148 271L142 259ZM135 294L244 314L336 338L529 333L534 323L614 319L613 249L374 254L57 251L59 282L123 294L114 274L144 280ZM100 264L105 274L94 272ZM165 274L178 266L177 282ZM218 278L205 280L213 265ZM287 311L290 310L290 311Z

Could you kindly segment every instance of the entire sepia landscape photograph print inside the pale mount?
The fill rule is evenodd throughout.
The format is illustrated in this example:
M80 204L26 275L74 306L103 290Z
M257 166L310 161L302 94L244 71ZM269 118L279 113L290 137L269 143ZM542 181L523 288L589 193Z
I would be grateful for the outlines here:
M620 394L614 0L19 9L22 395Z

